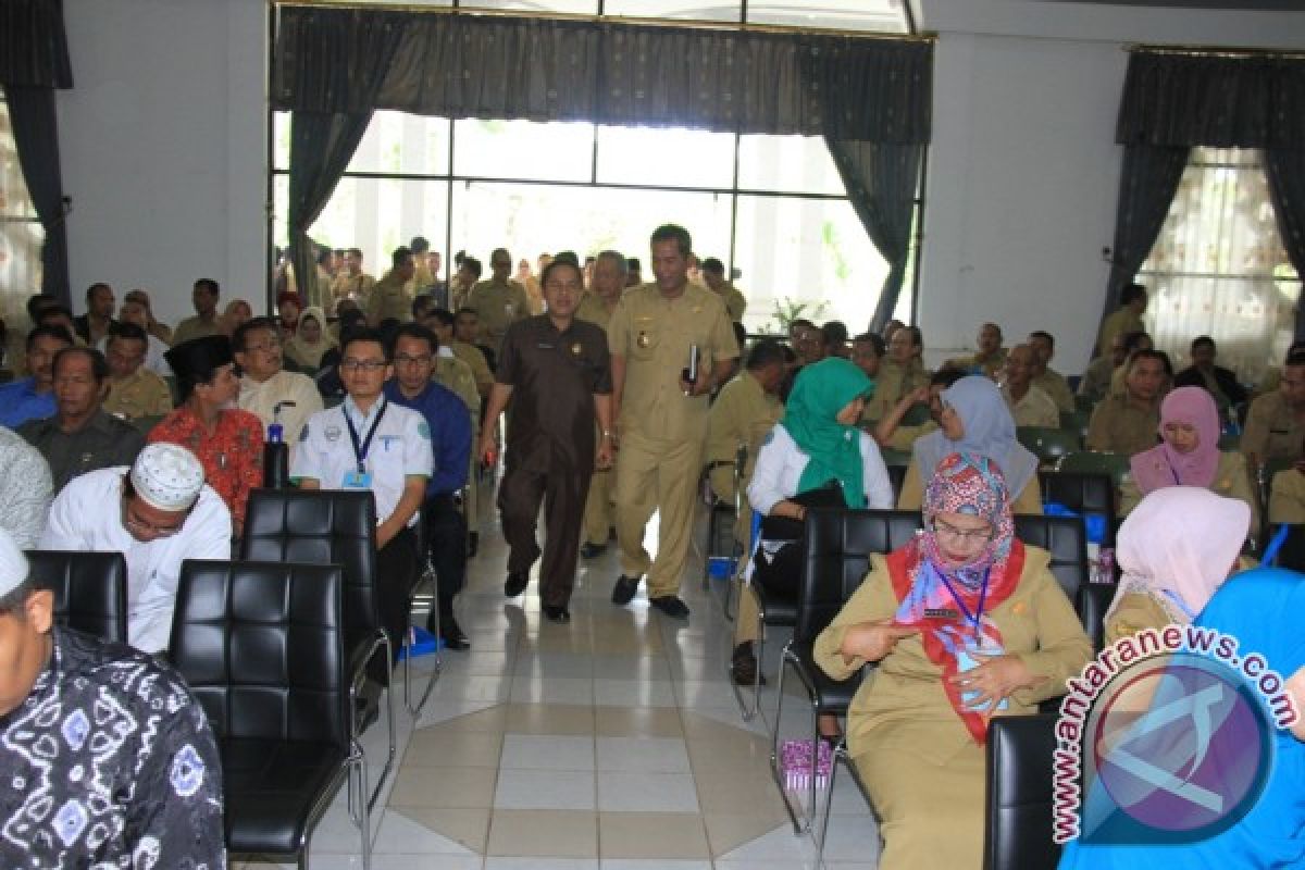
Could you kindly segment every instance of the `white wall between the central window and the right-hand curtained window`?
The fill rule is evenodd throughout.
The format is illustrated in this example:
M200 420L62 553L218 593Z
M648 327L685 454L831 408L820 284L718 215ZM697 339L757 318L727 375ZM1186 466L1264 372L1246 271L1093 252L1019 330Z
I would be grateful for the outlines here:
M1045 329L1057 368L1087 361L1109 271L1129 42L1274 46L1297 13L920 0L938 33L919 322L930 359ZM1297 39L1298 42L1298 39Z

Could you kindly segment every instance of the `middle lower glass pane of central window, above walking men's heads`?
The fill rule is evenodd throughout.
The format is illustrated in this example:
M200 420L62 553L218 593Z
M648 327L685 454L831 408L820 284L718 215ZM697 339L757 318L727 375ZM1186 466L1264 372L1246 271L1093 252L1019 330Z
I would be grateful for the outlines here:
M729 250L727 196L489 181L454 185L450 248L485 266L497 247L531 265L543 252L583 258L611 248L638 257L650 279L649 236L668 222L686 227L702 256L723 258Z

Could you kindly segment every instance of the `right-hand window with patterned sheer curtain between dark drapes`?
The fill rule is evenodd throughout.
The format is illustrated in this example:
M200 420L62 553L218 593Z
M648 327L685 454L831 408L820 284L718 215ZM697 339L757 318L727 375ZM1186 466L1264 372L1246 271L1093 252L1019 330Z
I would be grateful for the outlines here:
M1248 383L1292 342L1301 280L1283 248L1257 150L1193 149L1164 228L1138 273L1147 321L1174 365L1210 335Z

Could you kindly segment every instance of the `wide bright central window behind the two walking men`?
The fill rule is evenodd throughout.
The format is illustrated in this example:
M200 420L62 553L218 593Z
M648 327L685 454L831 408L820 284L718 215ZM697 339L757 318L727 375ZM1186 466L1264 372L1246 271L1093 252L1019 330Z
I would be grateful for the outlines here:
M275 243L286 244L290 116L275 123ZM804 305L855 333L874 312L887 263L850 205L825 142L683 129L449 121L376 112L311 235L358 247L372 274L412 236L452 261L518 261L613 248L647 261L647 237L680 223L748 297L750 331ZM645 277L649 271L645 269ZM897 316L911 313L911 286Z

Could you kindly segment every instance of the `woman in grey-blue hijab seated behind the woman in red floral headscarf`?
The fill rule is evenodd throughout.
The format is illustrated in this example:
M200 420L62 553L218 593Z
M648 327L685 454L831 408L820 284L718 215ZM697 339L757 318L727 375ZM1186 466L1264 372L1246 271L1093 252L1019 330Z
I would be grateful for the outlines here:
M953 453L988 457L1005 476L1014 493L1010 509L1015 514L1043 513L1037 485L1037 457L1015 440L1015 420L997 385L985 377L967 376L942 391L942 413L936 432L911 446L911 464L902 481L898 507L916 510L924 485L942 459Z

